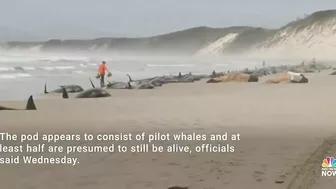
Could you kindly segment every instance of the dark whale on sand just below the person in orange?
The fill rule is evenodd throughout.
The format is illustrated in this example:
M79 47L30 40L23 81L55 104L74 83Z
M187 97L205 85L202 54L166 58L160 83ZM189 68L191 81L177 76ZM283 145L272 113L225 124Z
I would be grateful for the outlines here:
M74 98L103 98L103 97L110 97L111 94L107 92L105 89L102 88L96 88L90 78L90 83L93 88L91 89L86 89L79 94L77 94ZM63 94L62 97L67 99L69 98L68 92L66 91L65 88L63 89Z

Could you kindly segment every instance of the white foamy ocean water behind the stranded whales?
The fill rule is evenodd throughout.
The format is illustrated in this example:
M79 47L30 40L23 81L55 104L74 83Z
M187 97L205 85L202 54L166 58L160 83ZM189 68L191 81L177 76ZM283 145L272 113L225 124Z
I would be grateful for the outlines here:
M0 54L0 100L26 100L29 95L43 98L44 84L48 91L59 85L78 84L90 88L89 77L95 85L100 61L106 61L112 71L110 81L192 72L210 74L213 70L226 71L261 66L262 60L247 60L239 57L89 57L29 54ZM276 63L273 61L273 63ZM284 63L282 61L282 63Z

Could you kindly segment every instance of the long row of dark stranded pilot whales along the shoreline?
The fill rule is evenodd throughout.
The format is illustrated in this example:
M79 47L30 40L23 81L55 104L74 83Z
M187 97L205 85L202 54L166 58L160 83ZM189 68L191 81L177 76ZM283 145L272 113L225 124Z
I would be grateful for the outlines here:
M317 64L318 65L318 64ZM314 65L316 67L316 65ZM329 67L325 67L324 65L318 65L319 67L322 66L322 68L319 68L318 70L323 70L323 69L328 69ZM243 71L238 71L240 73L246 73L251 76L256 76L256 77L262 77L271 73L277 73L277 72L284 72L284 71L296 71L293 70L295 69L301 69L302 65L300 66L279 66L279 67L266 67L266 68L261 68L261 69L256 69L253 71L248 71L248 70L243 70ZM317 69L317 68L315 68ZM303 69L305 70L305 69ZM228 71L229 72L229 71ZM227 73L228 73L227 72ZM216 72L213 71L212 74L210 75L193 75L190 72L188 74L182 75L181 72L177 76L156 76L156 77L151 77L151 78L146 78L146 79L139 79L139 80L133 80L129 74L127 74L129 81L128 82L110 82L108 81L108 84L106 85L107 89L153 89L155 87L160 87L164 84L168 83L192 83L194 81L199 81L204 78L217 78L221 77L227 74L226 72ZM336 74L331 74L331 75L336 75ZM92 88L91 89L86 89L84 90L81 86L79 85L61 85L60 88L55 89L51 92L47 91L47 84L45 83L44 87L44 93L62 93L63 98L69 98L68 93L78 93L74 98L100 98L100 97L109 97L111 96L108 91L102 88L96 88L90 79ZM16 109L16 108L9 108L9 107L4 107L0 106L0 110L36 110L36 106L33 100L33 96L30 96L27 105L25 109Z

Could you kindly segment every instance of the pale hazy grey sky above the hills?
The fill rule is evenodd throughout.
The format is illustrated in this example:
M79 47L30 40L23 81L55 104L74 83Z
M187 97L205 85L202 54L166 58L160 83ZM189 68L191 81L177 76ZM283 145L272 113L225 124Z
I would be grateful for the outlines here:
M336 9L336 0L0 0L0 4L0 26L51 37L73 37L78 32L149 36L196 26L274 28L307 13Z

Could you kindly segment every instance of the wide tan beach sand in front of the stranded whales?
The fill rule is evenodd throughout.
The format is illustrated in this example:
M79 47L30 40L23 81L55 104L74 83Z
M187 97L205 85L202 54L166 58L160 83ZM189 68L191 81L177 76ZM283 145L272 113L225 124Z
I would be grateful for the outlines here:
M336 76L329 72L306 74L308 84L200 81L113 90L111 98L101 99L53 95L35 100L37 111L2 111L1 131L6 132L228 132L240 133L240 140L217 142L234 145L233 153L78 153L72 154L79 157L75 167L2 165L1 186L331 188L335 179L321 177L322 160L336 156ZM1 105L22 108L25 103ZM189 141L191 147L199 143L206 142Z

